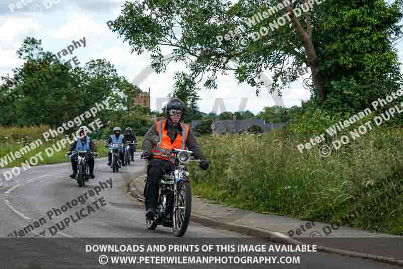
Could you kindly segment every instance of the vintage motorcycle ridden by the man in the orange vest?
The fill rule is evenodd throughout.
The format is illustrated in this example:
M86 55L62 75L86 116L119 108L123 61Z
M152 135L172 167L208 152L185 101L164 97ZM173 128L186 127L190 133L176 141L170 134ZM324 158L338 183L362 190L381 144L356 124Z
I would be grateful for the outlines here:
M162 149L158 137L155 137L154 141L158 142L159 148L165 154L154 153L153 155L168 157L174 164L172 169L162 175L158 182L158 206L154 211L154 221L146 218L146 226L149 230L155 230L158 225L172 227L173 233L181 237L189 225L192 203L189 172L186 170L185 164L200 163L201 160L191 159L193 152L190 150ZM147 186L147 177L145 181ZM146 195L145 192L144 195Z

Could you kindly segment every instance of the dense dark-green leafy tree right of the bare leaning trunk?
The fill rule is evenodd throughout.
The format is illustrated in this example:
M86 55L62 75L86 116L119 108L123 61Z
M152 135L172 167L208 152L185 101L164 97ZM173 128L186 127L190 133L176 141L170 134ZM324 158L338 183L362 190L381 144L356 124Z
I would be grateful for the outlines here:
M322 19L318 51L320 73L327 99L323 108L331 112L357 113L371 102L400 88L397 50L386 33L396 30L401 3L390 8L384 1L333 1ZM343 40L343 41L341 41ZM319 93L313 91L319 102Z

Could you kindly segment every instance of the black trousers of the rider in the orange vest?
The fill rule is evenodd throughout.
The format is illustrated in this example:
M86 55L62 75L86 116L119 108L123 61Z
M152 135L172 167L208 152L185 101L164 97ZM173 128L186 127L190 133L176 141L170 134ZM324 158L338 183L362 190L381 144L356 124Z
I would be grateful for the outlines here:
M163 173L171 169L171 163L161 158L152 158L149 161L148 176L146 187L144 189L144 197L146 198L146 210L157 208L158 205L158 181Z

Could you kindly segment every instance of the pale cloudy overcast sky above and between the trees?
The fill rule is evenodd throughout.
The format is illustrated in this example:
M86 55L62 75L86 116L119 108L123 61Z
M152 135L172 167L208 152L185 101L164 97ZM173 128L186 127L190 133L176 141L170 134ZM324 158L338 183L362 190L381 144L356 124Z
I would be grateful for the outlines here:
M52 3L51 7L47 2ZM12 73L20 66L16 51L25 37L42 39L45 50L57 53L67 48L75 40L85 37L86 47L78 47L71 54L62 56L68 61L73 57L81 62L80 66L92 59L103 59L115 65L119 75L129 82L151 64L149 53L141 56L130 53L127 43L109 30L106 22L120 15L124 0L2 0L0 4L0 75ZM25 3L25 4L24 4ZM20 9L19 9L20 8ZM48 8L48 9L47 9ZM402 45L396 45L399 59L403 60ZM163 53L172 50L165 49ZM170 64L163 74L151 74L139 86L143 91L151 88L151 109L157 109L157 99L164 98L172 90L175 71L184 70L181 64ZM267 73L270 77L270 74ZM309 99L309 90L303 88L303 76L283 92L286 107L300 105L301 100ZM260 112L264 106L275 105L274 98L267 91L256 96L247 84L237 84L233 74L220 76L218 88L202 89L199 101L200 110L209 113L213 110L216 98L223 98L226 111L239 111L242 98L248 101L243 110ZM243 108L243 107L242 107ZM218 110L218 113L222 111Z

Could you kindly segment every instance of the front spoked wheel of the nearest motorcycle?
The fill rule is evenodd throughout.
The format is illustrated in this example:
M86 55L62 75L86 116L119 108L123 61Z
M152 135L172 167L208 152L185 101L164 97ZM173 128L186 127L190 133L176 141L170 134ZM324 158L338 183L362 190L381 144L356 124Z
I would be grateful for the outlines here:
M185 234L190 220L190 211L192 205L192 194L190 183L187 181L179 182L177 195L174 198L174 206L172 208L172 230L173 233L181 237Z

